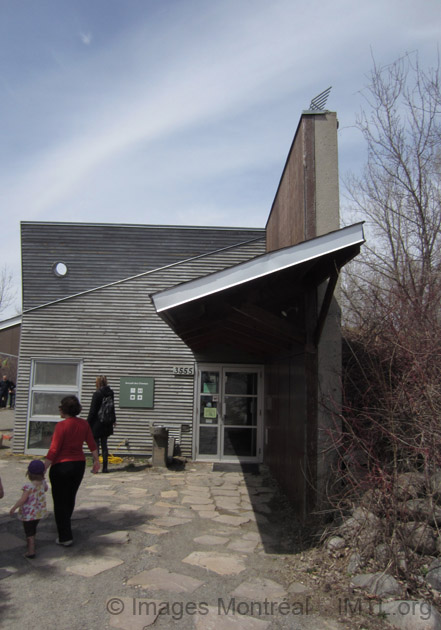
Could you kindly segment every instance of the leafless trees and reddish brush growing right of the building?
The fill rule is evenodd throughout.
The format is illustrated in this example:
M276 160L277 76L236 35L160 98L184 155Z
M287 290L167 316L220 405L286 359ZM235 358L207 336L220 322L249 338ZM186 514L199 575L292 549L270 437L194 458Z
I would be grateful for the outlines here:
M417 54L374 64L364 97L357 126L367 163L346 187L366 220L367 243L343 279L344 406L334 433L341 455L335 487L346 506L369 490L383 541L408 549L409 521L437 527L431 492L441 469L439 64L423 69ZM398 491L409 473L425 480L424 518L406 512Z

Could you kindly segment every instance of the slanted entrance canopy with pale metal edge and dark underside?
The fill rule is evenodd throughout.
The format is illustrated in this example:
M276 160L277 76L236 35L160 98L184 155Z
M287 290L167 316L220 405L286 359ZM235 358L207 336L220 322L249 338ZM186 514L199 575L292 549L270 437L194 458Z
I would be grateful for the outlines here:
M153 303L195 352L227 344L273 354L305 343L305 293L328 278L335 286L363 242L362 223L356 223L176 285L154 294Z

